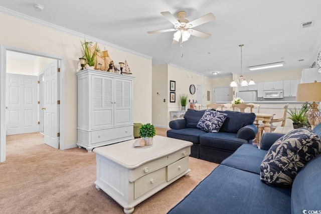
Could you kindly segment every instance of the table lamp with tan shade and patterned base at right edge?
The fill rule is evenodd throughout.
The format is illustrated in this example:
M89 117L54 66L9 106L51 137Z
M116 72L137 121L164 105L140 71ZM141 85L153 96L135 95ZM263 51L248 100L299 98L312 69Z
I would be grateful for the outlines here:
M307 120L313 129L321 121L321 112L317 109L315 102L321 101L321 82L302 83L297 85L296 101L312 102L310 109L306 112Z

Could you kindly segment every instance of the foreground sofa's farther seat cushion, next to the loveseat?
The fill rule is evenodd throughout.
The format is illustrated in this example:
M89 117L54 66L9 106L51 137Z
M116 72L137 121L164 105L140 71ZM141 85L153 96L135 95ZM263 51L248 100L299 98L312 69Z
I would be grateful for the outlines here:
M221 164L260 174L260 165L265 154L266 150L258 149L256 145L243 144Z

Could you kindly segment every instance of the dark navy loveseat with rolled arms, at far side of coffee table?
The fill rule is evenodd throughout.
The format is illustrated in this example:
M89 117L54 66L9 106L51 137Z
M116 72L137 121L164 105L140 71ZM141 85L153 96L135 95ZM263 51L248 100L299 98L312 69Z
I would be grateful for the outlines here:
M167 131L167 136L191 141L190 156L216 163L221 163L241 145L252 144L257 133L257 127L253 124L254 113L218 111L227 114L227 117L219 132L208 133L197 127L205 111L188 109L184 119L170 122L171 129Z

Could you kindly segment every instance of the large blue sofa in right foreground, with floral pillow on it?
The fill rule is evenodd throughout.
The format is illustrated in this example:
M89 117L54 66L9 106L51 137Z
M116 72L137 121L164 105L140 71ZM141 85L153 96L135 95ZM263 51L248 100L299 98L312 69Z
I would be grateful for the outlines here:
M321 123L312 134L318 138L312 149L315 157L305 158L307 163L294 176L291 186L279 187L260 179L262 160L270 153L267 150L291 135L264 133L261 149L250 144L240 146L168 213L321 213ZM296 142L297 138L290 140ZM291 150L285 152L290 154ZM289 157L279 158L284 156Z

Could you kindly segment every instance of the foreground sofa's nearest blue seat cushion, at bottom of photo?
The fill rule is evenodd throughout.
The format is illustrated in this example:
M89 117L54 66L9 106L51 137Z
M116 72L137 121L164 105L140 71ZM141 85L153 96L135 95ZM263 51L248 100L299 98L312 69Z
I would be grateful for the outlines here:
M259 177L219 165L168 213L291 213L291 190L265 185Z

